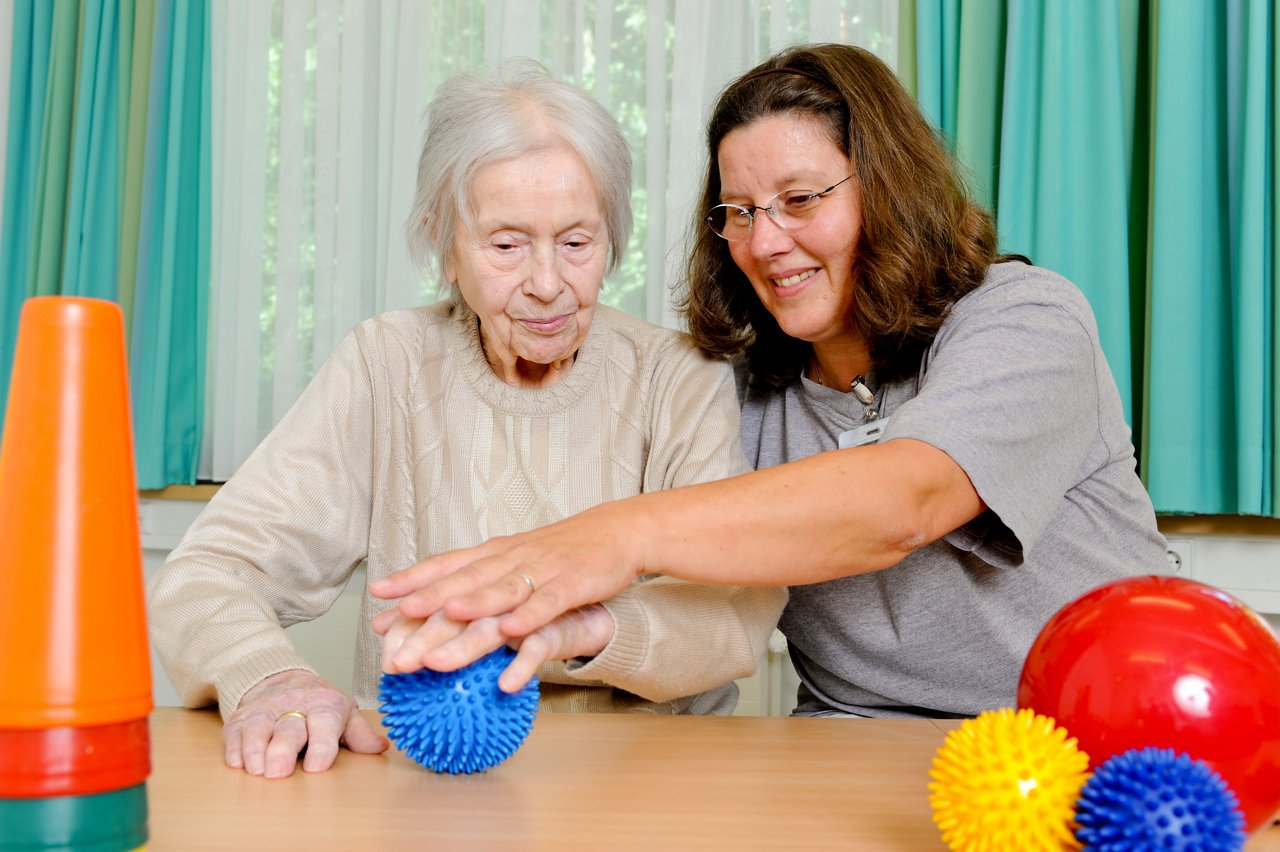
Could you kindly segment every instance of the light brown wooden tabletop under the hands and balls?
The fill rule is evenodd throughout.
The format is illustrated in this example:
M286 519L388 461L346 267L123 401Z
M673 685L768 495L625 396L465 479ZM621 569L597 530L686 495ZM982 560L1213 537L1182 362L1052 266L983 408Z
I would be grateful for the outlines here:
M941 849L927 784L951 727L543 715L477 775L343 750L330 771L265 780L223 764L218 714L165 707L148 849ZM1280 826L1248 848L1280 849Z

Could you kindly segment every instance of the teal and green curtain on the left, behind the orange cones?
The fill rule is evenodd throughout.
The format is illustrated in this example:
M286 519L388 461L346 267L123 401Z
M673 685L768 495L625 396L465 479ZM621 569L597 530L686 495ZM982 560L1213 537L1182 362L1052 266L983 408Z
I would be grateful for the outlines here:
M209 287L207 5L15 0L13 15L0 406L28 297L116 301L132 331L138 485L193 482Z

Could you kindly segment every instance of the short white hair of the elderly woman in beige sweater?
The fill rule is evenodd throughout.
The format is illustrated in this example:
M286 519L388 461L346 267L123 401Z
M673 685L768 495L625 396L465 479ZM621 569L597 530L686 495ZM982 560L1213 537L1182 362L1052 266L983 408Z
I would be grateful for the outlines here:
M612 271L631 238L631 151L595 99L531 59L508 60L493 74L452 77L431 99L404 223L413 262L424 271L433 261L444 269L458 229L471 224L476 171L557 143L568 145L595 180Z

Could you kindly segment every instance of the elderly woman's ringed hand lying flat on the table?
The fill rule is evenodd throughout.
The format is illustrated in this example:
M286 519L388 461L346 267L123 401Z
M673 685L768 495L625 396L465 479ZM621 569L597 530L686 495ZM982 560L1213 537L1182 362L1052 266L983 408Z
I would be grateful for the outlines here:
M387 738L338 687L301 669L262 678L223 725L227 765L250 775L288 778L306 748L302 769L329 769L339 745L356 752L387 751Z

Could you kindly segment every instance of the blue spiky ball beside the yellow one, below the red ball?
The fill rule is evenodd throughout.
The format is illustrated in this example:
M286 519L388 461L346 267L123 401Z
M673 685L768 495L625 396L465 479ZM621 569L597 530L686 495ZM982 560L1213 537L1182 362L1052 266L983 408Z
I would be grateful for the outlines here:
M1133 748L1093 773L1075 806L1085 849L1244 848L1235 793L1207 764L1172 748Z

